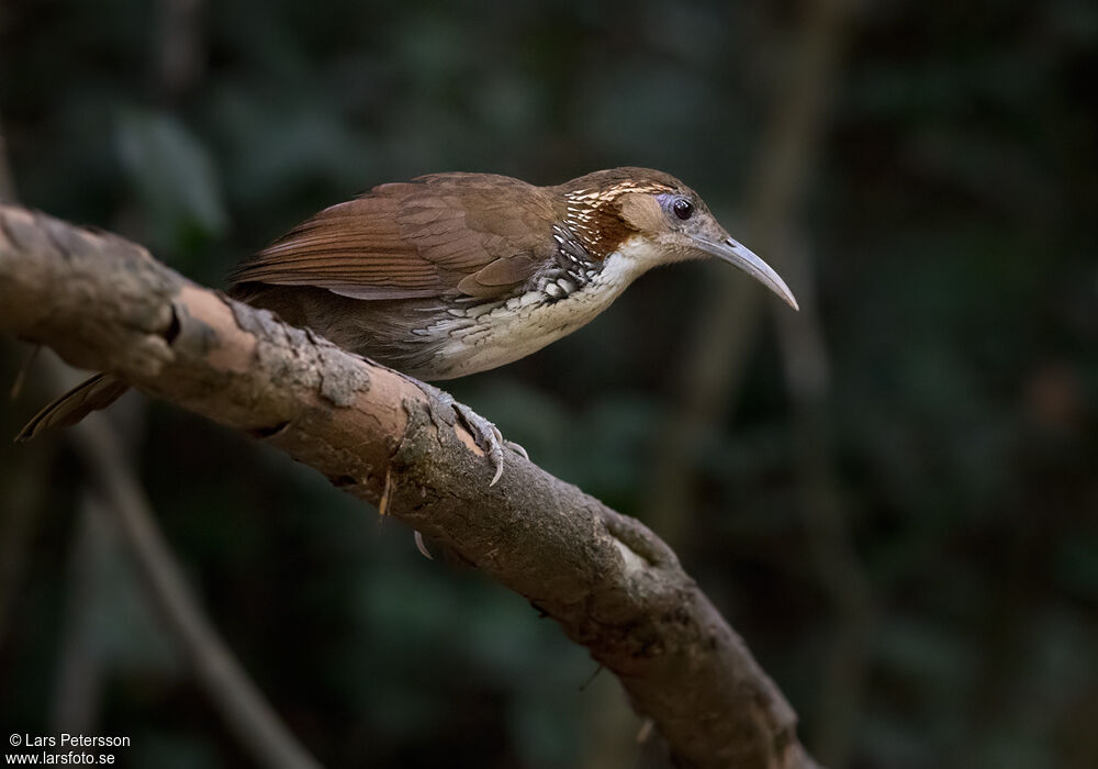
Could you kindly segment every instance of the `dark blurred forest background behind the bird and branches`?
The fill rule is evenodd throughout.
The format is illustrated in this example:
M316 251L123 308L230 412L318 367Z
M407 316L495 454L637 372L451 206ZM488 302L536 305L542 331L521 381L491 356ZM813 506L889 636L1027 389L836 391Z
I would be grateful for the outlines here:
M209 285L429 171L698 190L802 313L683 265L451 389L671 542L833 767L1098 766L1096 82L1088 0L0 2L9 186ZM664 766L520 598L240 435L112 412L322 762ZM0 724L248 766L83 475L64 435L0 441Z

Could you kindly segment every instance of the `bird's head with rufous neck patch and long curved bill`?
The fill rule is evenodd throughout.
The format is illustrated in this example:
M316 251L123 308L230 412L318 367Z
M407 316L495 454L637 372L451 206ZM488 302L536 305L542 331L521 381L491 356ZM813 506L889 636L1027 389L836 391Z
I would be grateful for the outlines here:
M716 257L757 279L794 310L789 287L717 223L697 192L649 168L595 171L561 185L565 225L595 258L612 253L642 269Z

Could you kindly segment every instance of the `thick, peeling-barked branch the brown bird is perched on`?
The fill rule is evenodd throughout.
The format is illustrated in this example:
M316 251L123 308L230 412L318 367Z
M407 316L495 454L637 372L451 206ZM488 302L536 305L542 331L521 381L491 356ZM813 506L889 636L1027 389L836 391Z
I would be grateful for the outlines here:
M0 331L248 431L525 595L585 645L683 767L810 767L796 715L674 553L508 455L411 380L195 286L121 237L0 207Z

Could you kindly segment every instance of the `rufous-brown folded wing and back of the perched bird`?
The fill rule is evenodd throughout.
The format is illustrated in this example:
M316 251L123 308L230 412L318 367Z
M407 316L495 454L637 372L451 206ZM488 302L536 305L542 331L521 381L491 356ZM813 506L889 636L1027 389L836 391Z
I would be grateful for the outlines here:
M550 256L551 198L486 174L382 185L321 211L231 277L354 299L502 298Z

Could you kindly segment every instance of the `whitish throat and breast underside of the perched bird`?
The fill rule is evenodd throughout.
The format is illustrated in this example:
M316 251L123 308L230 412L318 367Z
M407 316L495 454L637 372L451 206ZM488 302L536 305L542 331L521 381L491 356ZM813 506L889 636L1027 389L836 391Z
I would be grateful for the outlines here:
M447 377L462 377L518 360L592 321L640 275L665 261L646 241L630 238L606 257L602 270L564 299L515 297L475 317L452 317L424 330L445 342L439 356L453 361Z

